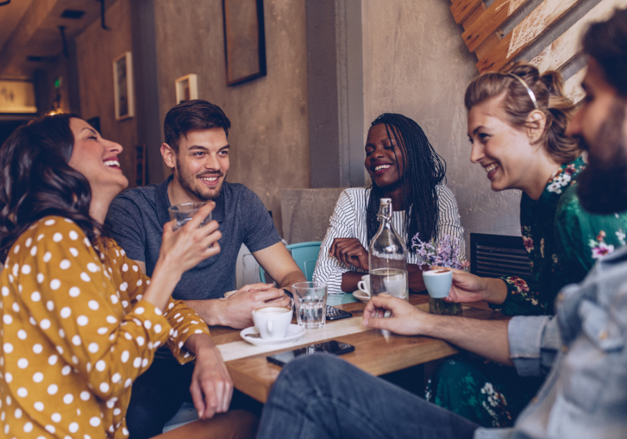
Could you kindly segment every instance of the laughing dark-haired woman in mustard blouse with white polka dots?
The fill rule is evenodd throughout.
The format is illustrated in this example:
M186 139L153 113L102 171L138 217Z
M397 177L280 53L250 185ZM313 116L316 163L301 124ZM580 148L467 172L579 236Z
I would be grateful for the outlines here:
M176 232L164 226L151 281L102 225L127 186L121 151L72 115L18 128L0 148L0 436L127 437L131 385L162 344L182 363L196 358L201 419L229 408L233 385L206 324L170 297L185 270L219 252L217 222L198 227L214 203ZM232 415L164 436L208 437ZM254 431L254 419L235 417Z

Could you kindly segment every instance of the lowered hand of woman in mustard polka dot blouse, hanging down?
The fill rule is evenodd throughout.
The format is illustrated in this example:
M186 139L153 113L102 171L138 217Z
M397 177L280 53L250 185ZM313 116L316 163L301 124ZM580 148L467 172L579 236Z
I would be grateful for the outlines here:
M222 361L222 355L206 334L192 335L187 339L185 347L196 354L196 367L189 392L200 419L225 413L229 410L233 396L233 380Z

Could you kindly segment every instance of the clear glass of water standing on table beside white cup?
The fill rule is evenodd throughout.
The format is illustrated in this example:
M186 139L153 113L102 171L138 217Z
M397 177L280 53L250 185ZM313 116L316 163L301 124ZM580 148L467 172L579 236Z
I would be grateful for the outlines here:
M292 285L298 324L307 329L324 328L327 309L325 282L298 282Z

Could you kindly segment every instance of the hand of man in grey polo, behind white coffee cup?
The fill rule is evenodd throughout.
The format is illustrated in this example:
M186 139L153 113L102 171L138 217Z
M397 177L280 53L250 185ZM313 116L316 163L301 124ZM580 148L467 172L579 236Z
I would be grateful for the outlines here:
M221 324L235 329L252 326L252 311L265 307L291 307L291 299L282 289L272 284L251 284L240 288L237 293L220 299Z

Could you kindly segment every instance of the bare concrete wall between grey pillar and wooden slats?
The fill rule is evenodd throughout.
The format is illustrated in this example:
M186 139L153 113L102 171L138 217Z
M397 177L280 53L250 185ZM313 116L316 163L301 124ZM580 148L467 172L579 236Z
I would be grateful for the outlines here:
M364 127L385 112L421 125L447 161L447 185L469 245L470 232L520 235L520 192L492 192L483 169L470 162L463 96L478 75L477 59L449 6L442 0L362 1Z

